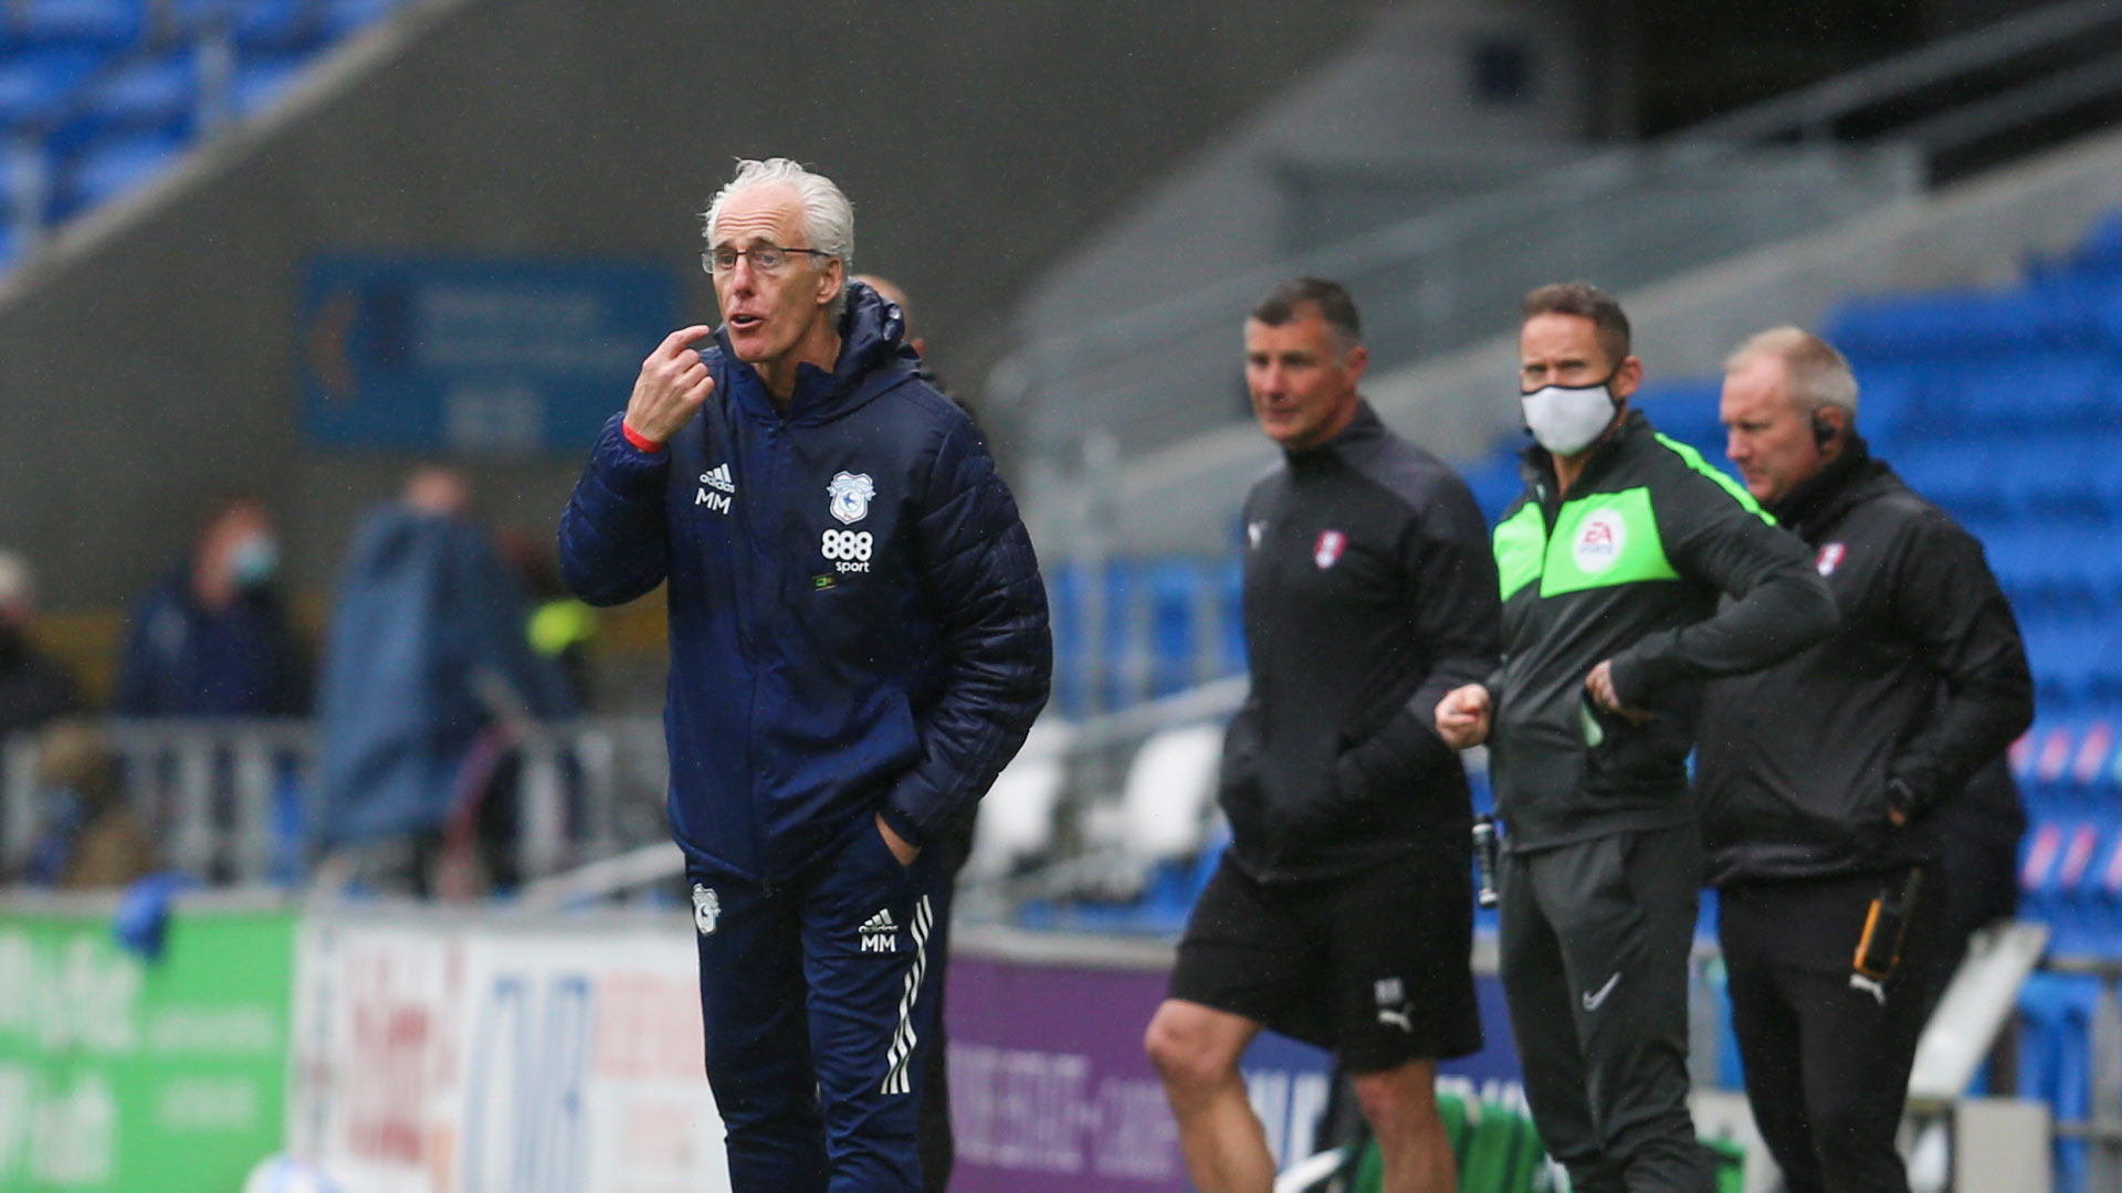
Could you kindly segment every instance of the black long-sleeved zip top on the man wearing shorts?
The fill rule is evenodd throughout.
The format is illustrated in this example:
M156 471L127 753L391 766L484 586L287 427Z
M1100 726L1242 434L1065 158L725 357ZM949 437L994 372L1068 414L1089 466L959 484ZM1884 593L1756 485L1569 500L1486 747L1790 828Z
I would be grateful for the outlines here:
M1496 664L1481 509L1364 403L1246 499L1252 690L1224 739L1231 860L1326 879L1411 851L1464 855L1473 813L1437 701Z

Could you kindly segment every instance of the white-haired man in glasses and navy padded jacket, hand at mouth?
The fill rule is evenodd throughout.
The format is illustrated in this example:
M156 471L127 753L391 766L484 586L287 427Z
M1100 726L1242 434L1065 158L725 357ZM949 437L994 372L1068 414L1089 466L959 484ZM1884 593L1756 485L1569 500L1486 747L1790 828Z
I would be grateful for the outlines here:
M671 828L736 1193L921 1189L938 838L1046 703L1008 486L849 280L825 176L741 161L707 212L724 325L673 331L560 518L592 605L666 584Z

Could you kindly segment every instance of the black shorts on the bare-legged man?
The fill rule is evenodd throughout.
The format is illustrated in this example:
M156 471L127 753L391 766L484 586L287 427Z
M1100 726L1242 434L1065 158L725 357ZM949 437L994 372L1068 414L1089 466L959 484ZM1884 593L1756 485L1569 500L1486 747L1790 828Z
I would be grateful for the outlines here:
M1466 860L1258 883L1224 855L1186 921L1171 998L1333 1049L1350 1072L1477 1053Z

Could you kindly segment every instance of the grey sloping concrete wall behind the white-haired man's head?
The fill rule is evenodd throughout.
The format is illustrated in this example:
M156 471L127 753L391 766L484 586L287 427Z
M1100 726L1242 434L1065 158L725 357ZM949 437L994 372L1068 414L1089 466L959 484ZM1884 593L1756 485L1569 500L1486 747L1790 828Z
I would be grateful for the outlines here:
M303 448L301 261L688 263L736 155L840 180L857 267L910 289L944 376L980 376L1033 270L1379 6L437 0L0 282L0 543L42 567L47 605L115 605L242 486L282 509L297 586L325 584L410 461ZM550 526L575 467L480 467L482 509Z

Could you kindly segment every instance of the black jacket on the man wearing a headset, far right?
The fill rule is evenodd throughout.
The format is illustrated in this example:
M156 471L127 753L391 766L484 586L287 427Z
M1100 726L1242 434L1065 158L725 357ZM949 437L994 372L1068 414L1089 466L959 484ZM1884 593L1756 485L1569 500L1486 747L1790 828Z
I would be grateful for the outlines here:
M1923 811L1954 800L2033 722L2033 675L1982 543L1861 442L1776 505L1842 630L1710 684L1695 788L1708 879L1861 875L1935 855ZM1886 783L1916 815L1895 830Z

